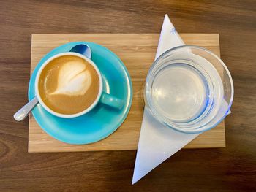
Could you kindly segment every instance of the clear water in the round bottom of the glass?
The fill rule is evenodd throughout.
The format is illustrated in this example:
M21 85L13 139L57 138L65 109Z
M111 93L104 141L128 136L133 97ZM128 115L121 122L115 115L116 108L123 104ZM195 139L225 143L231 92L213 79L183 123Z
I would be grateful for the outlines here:
M188 64L165 66L154 78L151 96L165 118L175 122L194 120L208 104L208 85L203 74Z

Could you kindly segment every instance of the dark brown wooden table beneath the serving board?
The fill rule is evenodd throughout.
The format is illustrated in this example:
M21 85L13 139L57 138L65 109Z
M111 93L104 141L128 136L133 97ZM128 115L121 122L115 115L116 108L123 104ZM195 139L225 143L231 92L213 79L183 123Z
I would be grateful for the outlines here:
M97 3L96 3L97 2ZM181 150L131 185L135 150L28 153L31 34L158 33L164 14L182 33L219 33L235 98L226 145ZM1 1L0 191L256 190L255 1Z

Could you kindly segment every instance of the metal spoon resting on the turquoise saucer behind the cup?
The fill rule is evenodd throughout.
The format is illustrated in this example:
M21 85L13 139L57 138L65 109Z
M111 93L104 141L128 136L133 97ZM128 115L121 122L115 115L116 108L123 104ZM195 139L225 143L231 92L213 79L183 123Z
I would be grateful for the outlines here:
M75 45L75 47L72 47L69 52L75 52L75 53L80 53L82 55L85 55L87 58L91 58L91 49L87 45ZM34 109L34 107L37 106L39 103L37 96L34 96L33 99L31 99L27 104L25 104L18 112L13 115L13 118L17 121L24 120L28 115L31 110Z

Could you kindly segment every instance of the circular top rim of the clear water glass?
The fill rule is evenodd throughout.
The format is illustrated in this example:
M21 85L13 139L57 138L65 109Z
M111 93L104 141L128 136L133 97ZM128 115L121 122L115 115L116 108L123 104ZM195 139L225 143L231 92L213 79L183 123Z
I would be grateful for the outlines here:
M229 103L228 103L228 105L227 105L227 112L228 112L228 111L230 110L230 107L231 107L232 103L233 103L233 94L234 94L233 79L232 79L232 77L231 77L231 74L230 74L229 70L227 69L227 66L226 66L225 63L222 61L221 58L219 58L216 54L212 53L210 50L208 50L208 49L206 49L206 48L204 48L204 47L196 46L196 45L181 45L181 46L173 47L173 48L171 48L171 49L169 49L169 50L166 50L164 53L162 53L162 55L160 55L160 56L153 62L153 64L151 65L151 67L150 67L150 69L149 69L149 71L148 71L148 74L147 74L147 77L146 77L146 86L145 86L146 103L148 104L148 106L149 106L151 112L152 112L154 115L156 115L157 117L159 117L159 115L157 115L158 112L155 112L154 105L152 104L151 95L150 95L151 91L149 90L149 89L151 89L151 87L149 87L149 85L148 85L148 82L151 82L151 77L152 77L152 73L153 73L153 70L154 70L155 66L156 66L156 65L159 63L159 61L160 61L162 58L164 58L165 55L167 55L168 53L171 53L171 52L173 52L174 50L179 50L179 49L184 49L184 48L192 48L192 49L197 49L197 50L203 50L203 52L206 52L206 53L210 54L211 56L213 56L214 58L216 58L217 61L219 61L219 64L222 64L222 67L224 68L225 72L227 73L228 79L229 79L229 81L230 81L230 89L231 89L230 94L231 94L231 96L230 96L230 101L229 101ZM214 68L215 68L215 66L214 66ZM217 123L214 124L214 126L217 126L217 124L219 124L219 123L225 118L225 116L227 115L227 112L225 113L225 115L223 115L222 118L220 118L220 119L218 120ZM203 132L203 131L207 131L207 130L209 130L209 129L211 129L211 128L214 127L214 126L211 126L211 127L209 127L209 128L205 128L205 129L198 128L199 130L197 130L197 128L195 128L195 129L191 129L191 130L186 130L186 131L185 131L183 128L175 128L175 127L173 127L173 126L168 125L168 123L166 123L165 120L162 119L162 118L159 118L159 120L160 120L162 123L164 123L165 126L168 126L168 127L170 127L170 128L173 128L173 129L175 129L176 131L180 131L180 132L184 132L184 133L188 133L188 134L197 134L197 133L201 133L201 132Z

